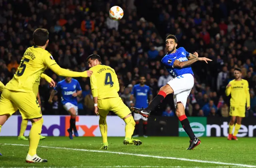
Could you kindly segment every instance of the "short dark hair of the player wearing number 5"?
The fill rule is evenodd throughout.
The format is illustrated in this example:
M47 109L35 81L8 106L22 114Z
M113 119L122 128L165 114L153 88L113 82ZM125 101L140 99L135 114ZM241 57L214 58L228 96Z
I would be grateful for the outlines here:
M48 40L49 31L47 29L38 28L33 33L34 45L44 46Z

